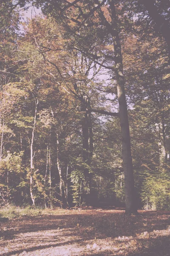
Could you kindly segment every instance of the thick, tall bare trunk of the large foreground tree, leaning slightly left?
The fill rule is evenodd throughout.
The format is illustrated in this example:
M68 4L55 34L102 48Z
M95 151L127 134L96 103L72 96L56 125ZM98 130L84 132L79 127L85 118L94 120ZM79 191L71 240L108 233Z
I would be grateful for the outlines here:
M119 33L116 23L116 10L114 1L110 0L112 30L111 35L114 44L115 72L117 79L117 94L119 100L119 118L122 133L122 158L125 175L125 204L126 214L137 214L134 190L133 165L130 145L130 131L127 114L127 103L125 98L125 79L123 75L122 52L119 40Z

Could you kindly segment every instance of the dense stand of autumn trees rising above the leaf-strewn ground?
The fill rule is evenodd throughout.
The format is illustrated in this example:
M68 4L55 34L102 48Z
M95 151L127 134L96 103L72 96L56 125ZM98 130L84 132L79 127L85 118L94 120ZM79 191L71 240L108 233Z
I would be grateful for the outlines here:
M168 0L0 1L7 204L170 210Z

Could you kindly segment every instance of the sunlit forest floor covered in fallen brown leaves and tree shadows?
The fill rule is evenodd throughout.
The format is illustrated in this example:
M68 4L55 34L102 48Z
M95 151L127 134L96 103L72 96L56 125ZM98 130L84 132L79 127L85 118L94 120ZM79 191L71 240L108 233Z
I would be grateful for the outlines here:
M0 256L170 256L170 212L46 210L0 222Z

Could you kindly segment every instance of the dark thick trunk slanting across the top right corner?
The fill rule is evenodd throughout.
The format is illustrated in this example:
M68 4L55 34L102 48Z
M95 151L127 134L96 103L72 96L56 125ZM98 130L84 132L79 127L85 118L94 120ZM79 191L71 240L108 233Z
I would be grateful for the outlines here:
M170 25L168 20L165 20L163 16L161 16L154 4L155 1L153 0L140 0L141 3L145 6L147 11L149 12L150 17L156 23L158 30L163 35L168 49L168 58L169 58L169 65L170 65Z

